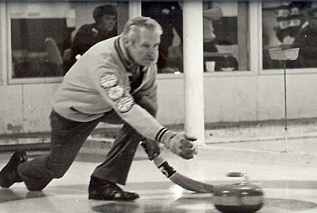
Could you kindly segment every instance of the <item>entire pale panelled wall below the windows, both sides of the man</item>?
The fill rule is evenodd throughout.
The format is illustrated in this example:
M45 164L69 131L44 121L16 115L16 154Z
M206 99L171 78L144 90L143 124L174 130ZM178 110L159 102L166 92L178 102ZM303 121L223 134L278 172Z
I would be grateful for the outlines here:
M287 75L289 119L317 117L317 75ZM50 131L51 102L59 84L0 86L0 134ZM184 83L160 79L158 119L162 124L184 124ZM282 75L204 78L205 122L284 119ZM193 109L194 110L194 109ZM99 125L106 127L109 125Z

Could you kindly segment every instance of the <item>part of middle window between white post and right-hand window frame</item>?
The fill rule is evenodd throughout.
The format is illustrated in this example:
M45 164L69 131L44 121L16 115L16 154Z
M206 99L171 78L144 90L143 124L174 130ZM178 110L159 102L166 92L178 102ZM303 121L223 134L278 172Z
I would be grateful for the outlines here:
M248 2L203 1L204 72L248 70Z

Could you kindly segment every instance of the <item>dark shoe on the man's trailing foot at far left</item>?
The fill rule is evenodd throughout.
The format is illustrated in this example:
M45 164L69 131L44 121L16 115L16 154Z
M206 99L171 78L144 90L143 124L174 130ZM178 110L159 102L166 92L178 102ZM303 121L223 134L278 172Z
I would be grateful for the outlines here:
M28 157L26 151L17 151L13 153L9 162L2 168L0 172L0 186L9 188L15 182L23 182L20 175L18 175L18 165L26 162Z

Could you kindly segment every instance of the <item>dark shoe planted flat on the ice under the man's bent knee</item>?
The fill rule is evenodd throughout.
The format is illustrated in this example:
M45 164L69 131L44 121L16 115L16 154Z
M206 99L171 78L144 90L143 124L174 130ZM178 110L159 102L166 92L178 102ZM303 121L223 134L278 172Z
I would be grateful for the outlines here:
M116 183L91 177L89 200L133 201L140 196L134 192L125 192Z

